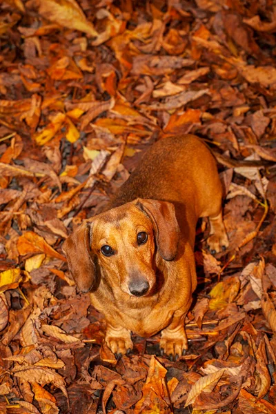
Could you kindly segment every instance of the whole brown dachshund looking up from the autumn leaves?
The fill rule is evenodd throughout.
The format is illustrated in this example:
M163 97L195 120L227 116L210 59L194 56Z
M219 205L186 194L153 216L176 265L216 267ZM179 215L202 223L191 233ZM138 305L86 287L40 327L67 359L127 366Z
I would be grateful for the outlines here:
M131 332L161 331L161 352L175 358L188 348L195 228L205 216L208 245L218 252L228 239L215 159L193 135L169 137L146 152L108 210L63 244L79 290L92 290L92 304L106 317L106 343L115 355L132 349Z

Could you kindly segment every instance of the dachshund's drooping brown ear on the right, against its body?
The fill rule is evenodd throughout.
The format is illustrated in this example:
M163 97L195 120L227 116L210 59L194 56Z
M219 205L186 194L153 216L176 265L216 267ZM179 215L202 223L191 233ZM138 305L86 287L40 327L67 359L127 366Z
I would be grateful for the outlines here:
M137 199L135 203L152 222L161 257L168 261L175 259L179 242L179 226L175 217L175 206L168 201L152 199Z

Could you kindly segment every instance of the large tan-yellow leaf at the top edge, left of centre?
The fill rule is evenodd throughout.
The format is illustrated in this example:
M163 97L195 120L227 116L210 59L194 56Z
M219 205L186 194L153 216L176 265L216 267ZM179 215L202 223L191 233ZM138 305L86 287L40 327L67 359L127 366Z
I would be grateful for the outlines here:
M97 37L98 32L75 0L39 0L39 13L50 21Z

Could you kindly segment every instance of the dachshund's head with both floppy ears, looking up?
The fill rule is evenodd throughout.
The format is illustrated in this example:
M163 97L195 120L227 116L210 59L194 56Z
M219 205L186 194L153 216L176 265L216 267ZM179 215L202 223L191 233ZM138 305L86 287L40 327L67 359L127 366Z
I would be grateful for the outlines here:
M179 226L173 204L136 199L86 220L63 244L68 266L82 292L95 288L96 265L113 288L144 296L155 286L155 253L177 255Z

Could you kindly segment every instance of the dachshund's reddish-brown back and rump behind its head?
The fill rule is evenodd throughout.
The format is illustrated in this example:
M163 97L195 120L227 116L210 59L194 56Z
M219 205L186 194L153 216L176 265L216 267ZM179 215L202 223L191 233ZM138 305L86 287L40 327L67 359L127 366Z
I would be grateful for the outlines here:
M213 194L217 193L216 199ZM221 204L221 184L213 155L194 135L157 141L112 198L108 208L137 198L170 201L180 228L194 228L199 217L212 216ZM193 243L195 231L191 231Z

